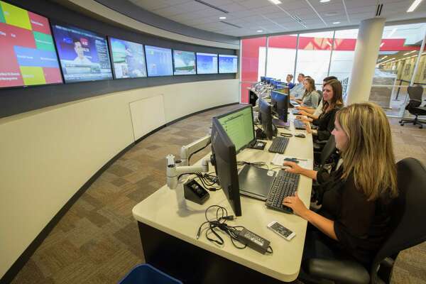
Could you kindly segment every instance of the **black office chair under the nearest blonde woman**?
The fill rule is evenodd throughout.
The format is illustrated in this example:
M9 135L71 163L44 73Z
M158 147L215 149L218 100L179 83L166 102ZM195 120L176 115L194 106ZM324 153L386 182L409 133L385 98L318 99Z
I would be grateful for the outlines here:
M415 158L400 160L396 166L399 196L391 219L392 231L376 254L370 271L356 261L311 258L302 263L303 272L315 280L311 282L390 283L398 253L426 241L426 223L422 222L426 207L426 169Z

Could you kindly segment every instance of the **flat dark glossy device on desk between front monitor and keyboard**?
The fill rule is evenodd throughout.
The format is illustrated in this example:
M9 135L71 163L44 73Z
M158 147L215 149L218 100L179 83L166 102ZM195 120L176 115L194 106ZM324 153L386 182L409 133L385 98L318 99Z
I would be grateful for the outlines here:
M276 174L273 170L244 165L238 174L240 194L266 201Z

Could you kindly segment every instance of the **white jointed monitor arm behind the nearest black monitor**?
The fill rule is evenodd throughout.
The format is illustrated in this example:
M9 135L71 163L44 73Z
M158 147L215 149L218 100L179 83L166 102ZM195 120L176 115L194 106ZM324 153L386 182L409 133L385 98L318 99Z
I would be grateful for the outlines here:
M211 158L202 159L201 165L188 165L189 158L193 153L202 150L207 147L210 143L210 135L204 136L203 138L198 139L186 146L180 148L180 164L176 165L175 156L169 154L165 157L167 161L166 165L166 178L167 185L170 189L175 189L178 186L178 178L180 175L185 173L207 173L209 171L209 162L211 163Z

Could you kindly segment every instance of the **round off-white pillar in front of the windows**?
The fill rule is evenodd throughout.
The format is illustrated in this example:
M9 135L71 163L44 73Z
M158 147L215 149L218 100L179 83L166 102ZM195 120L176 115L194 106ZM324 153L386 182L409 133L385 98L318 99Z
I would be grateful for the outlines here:
M366 102L370 97L385 20L369 18L359 25L346 104Z

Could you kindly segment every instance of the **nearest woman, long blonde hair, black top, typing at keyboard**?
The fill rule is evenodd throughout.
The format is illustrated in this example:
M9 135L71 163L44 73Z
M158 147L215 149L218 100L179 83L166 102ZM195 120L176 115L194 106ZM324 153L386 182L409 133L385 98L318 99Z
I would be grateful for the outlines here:
M391 127L384 111L373 103L340 109L334 126L343 163L322 187L321 209L307 209L297 194L286 197L283 204L310 223L303 260L349 257L369 268L388 235L398 195ZM285 165L290 165L290 172L320 178L313 170Z

